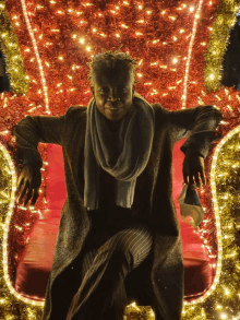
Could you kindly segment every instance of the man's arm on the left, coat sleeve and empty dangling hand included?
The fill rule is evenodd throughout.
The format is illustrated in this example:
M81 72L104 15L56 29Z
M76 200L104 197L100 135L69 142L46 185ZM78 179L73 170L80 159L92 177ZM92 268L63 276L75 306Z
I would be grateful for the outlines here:
M12 130L17 150L17 164L21 164L21 173L15 195L20 193L22 188L19 194L19 203L22 202L26 194L24 206L26 206L32 197L31 205L35 205L39 195L43 161L37 150L38 143L55 143L61 145L63 120L64 116L27 116Z

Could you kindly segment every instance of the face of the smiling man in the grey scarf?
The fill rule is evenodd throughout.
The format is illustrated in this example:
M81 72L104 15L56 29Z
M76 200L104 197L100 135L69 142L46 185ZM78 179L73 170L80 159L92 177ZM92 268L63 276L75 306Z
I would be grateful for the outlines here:
M120 120L132 107L133 80L125 66L103 68L94 76L92 93L98 110L109 120Z

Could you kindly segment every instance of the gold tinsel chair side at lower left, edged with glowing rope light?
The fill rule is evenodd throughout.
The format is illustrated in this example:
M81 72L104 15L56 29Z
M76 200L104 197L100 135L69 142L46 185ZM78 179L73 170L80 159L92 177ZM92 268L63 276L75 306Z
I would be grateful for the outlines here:
M5 320L12 319L37 319L41 315L41 308L37 307L36 301L25 299L15 292L8 272L8 237L11 232L11 218L14 208L14 192L16 189L16 174L9 152L0 143L0 315ZM36 307L34 307L34 305ZM38 317L37 317L38 315Z

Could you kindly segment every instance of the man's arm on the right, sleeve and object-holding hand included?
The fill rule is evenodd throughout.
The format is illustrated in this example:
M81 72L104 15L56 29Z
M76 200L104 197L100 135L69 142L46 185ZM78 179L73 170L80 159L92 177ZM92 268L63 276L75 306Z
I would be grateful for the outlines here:
M213 106L200 106L192 109L169 111L169 122L175 141L187 138L181 146L185 154L183 162L183 179L185 183L196 183L200 178L205 185L204 158L207 156L212 142L216 139L215 130L223 116Z

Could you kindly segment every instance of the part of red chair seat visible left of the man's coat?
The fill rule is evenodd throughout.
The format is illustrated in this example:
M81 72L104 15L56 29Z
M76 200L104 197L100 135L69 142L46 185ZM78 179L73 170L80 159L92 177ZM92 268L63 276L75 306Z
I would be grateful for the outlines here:
M59 218L39 220L34 225L16 266L15 289L23 296L45 297L58 227Z

